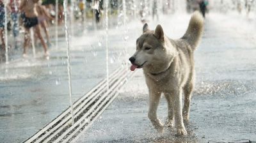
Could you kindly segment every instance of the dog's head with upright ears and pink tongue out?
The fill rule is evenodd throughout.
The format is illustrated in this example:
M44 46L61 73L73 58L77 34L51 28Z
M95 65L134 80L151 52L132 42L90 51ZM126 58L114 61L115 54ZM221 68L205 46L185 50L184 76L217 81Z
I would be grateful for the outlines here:
M143 68L151 73L163 72L170 66L175 50L170 41L164 36L163 28L158 25L155 31L143 26L143 34L136 41L136 52L129 60L132 63L131 71Z

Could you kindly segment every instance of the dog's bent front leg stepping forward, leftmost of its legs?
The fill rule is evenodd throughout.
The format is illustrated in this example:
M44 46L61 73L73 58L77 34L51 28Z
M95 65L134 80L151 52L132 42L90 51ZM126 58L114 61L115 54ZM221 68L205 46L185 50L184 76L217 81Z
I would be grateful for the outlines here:
M151 123L153 124L154 128L156 128L157 132L163 132L163 124L157 118L157 107L159 104L161 93L149 91L149 109L148 109L148 118L150 119Z

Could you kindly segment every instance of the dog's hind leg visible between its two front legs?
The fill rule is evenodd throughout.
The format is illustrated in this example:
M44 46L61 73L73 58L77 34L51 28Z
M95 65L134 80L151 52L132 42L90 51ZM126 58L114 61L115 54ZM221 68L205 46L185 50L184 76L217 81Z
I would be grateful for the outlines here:
M173 126L173 104L172 104L172 101L171 101L171 97L170 97L170 94L169 93L164 93L164 96L167 100L167 105L168 105L168 117L167 117L167 121L165 123L166 126Z

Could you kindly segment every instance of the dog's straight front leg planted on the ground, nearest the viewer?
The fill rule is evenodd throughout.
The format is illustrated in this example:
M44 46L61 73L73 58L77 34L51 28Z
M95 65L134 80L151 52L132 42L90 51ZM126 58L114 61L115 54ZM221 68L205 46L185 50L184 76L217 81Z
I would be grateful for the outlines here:
M175 120L175 127L177 128L177 135L186 135L187 131L185 129L183 118L182 118L181 89L177 89L177 91L174 91L171 97L173 102L174 120Z

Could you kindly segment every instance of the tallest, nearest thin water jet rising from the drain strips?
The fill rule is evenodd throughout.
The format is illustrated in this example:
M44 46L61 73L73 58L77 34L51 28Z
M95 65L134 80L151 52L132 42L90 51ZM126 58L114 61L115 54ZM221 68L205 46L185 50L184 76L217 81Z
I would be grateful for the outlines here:
M69 97L70 97L70 110L71 110L71 116L72 116L72 124L74 124L74 112L73 112L73 101L72 101L72 85L71 85L71 68L70 68L70 43L68 38L68 10L67 10L67 0L63 1L63 7L64 7L64 20L65 20L65 36L67 41L67 69L68 69L68 88L69 88Z

